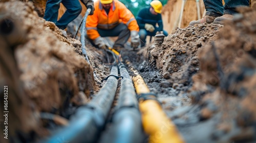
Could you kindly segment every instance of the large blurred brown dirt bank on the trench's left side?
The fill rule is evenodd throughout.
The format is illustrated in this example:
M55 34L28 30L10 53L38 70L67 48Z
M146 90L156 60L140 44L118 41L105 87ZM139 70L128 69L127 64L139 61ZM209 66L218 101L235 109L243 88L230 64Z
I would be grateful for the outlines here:
M70 105L84 104L84 96L89 97L94 88L92 66L75 53L81 43L67 37L33 10L32 3L0 3L0 79L3 79L0 85L7 84L13 90L9 97L17 97L8 102L15 118L10 136L23 136L14 131L25 133L31 126L34 126L30 128L32 131L40 128L39 112L68 117ZM35 137L32 134L26 137L32 136Z

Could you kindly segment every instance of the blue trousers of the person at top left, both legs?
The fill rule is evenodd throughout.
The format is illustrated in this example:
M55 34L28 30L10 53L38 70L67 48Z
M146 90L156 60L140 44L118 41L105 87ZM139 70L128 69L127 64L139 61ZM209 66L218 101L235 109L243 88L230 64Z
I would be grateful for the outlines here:
M57 21L59 5L62 3L66 8L66 12ZM60 29L66 29L68 24L73 21L82 11L82 7L78 0L48 0L46 3L46 11L44 18L52 21Z

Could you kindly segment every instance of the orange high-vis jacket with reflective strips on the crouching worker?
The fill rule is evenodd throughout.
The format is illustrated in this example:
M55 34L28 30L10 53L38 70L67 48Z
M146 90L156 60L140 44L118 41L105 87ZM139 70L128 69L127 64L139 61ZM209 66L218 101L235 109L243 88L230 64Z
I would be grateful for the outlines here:
M87 35L94 40L100 35L97 31L99 29L113 29L120 22L127 25L130 31L139 31L138 23L132 14L121 2L114 0L109 11L106 14L100 1L94 2L95 11L93 15L89 15L86 20Z

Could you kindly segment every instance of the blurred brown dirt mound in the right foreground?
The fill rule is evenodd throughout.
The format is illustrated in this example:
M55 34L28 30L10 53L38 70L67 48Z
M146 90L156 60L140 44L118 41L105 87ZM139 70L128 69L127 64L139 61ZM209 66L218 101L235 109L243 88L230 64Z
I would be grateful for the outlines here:
M240 12L199 54L200 71L193 77L190 96L202 106L201 118L221 116L211 134L215 140L255 139L256 11Z

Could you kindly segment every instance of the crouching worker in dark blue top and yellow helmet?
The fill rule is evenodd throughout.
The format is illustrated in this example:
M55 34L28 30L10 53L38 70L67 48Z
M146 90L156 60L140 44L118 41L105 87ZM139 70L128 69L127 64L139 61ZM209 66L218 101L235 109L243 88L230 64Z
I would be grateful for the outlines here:
M140 9L136 20L138 22L140 31L139 36L141 39L141 46L145 45L146 36L155 36L157 31L163 31L165 36L168 33L163 30L162 21L162 3L158 0L152 1L150 7ZM158 27L156 26L158 25Z

